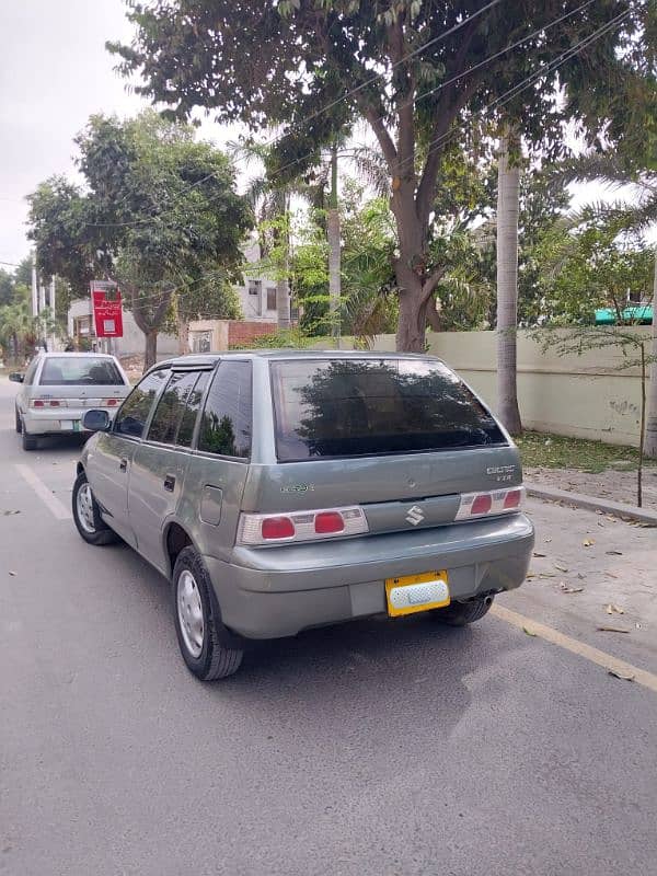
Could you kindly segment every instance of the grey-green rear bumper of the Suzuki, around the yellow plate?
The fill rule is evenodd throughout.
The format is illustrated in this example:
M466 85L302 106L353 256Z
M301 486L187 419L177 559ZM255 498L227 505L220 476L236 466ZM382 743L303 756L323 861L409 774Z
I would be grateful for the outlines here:
M223 623L249 638L384 613L385 579L446 569L451 598L511 590L534 533L522 514L413 532L234 551L205 557Z

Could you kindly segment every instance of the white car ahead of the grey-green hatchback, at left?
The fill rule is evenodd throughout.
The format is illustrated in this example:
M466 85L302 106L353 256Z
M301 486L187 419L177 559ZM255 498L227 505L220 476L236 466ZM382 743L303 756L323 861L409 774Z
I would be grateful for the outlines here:
M41 353L24 374L9 379L22 383L16 431L24 450L35 450L39 436L84 431L82 417L92 407L113 416L130 391L118 359L100 353Z

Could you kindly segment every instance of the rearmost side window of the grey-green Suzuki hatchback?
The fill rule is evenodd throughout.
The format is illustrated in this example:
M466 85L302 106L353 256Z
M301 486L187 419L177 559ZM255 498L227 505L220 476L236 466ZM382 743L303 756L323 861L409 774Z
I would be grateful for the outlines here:
M219 366L203 412L198 449L222 457L251 454L251 362Z

